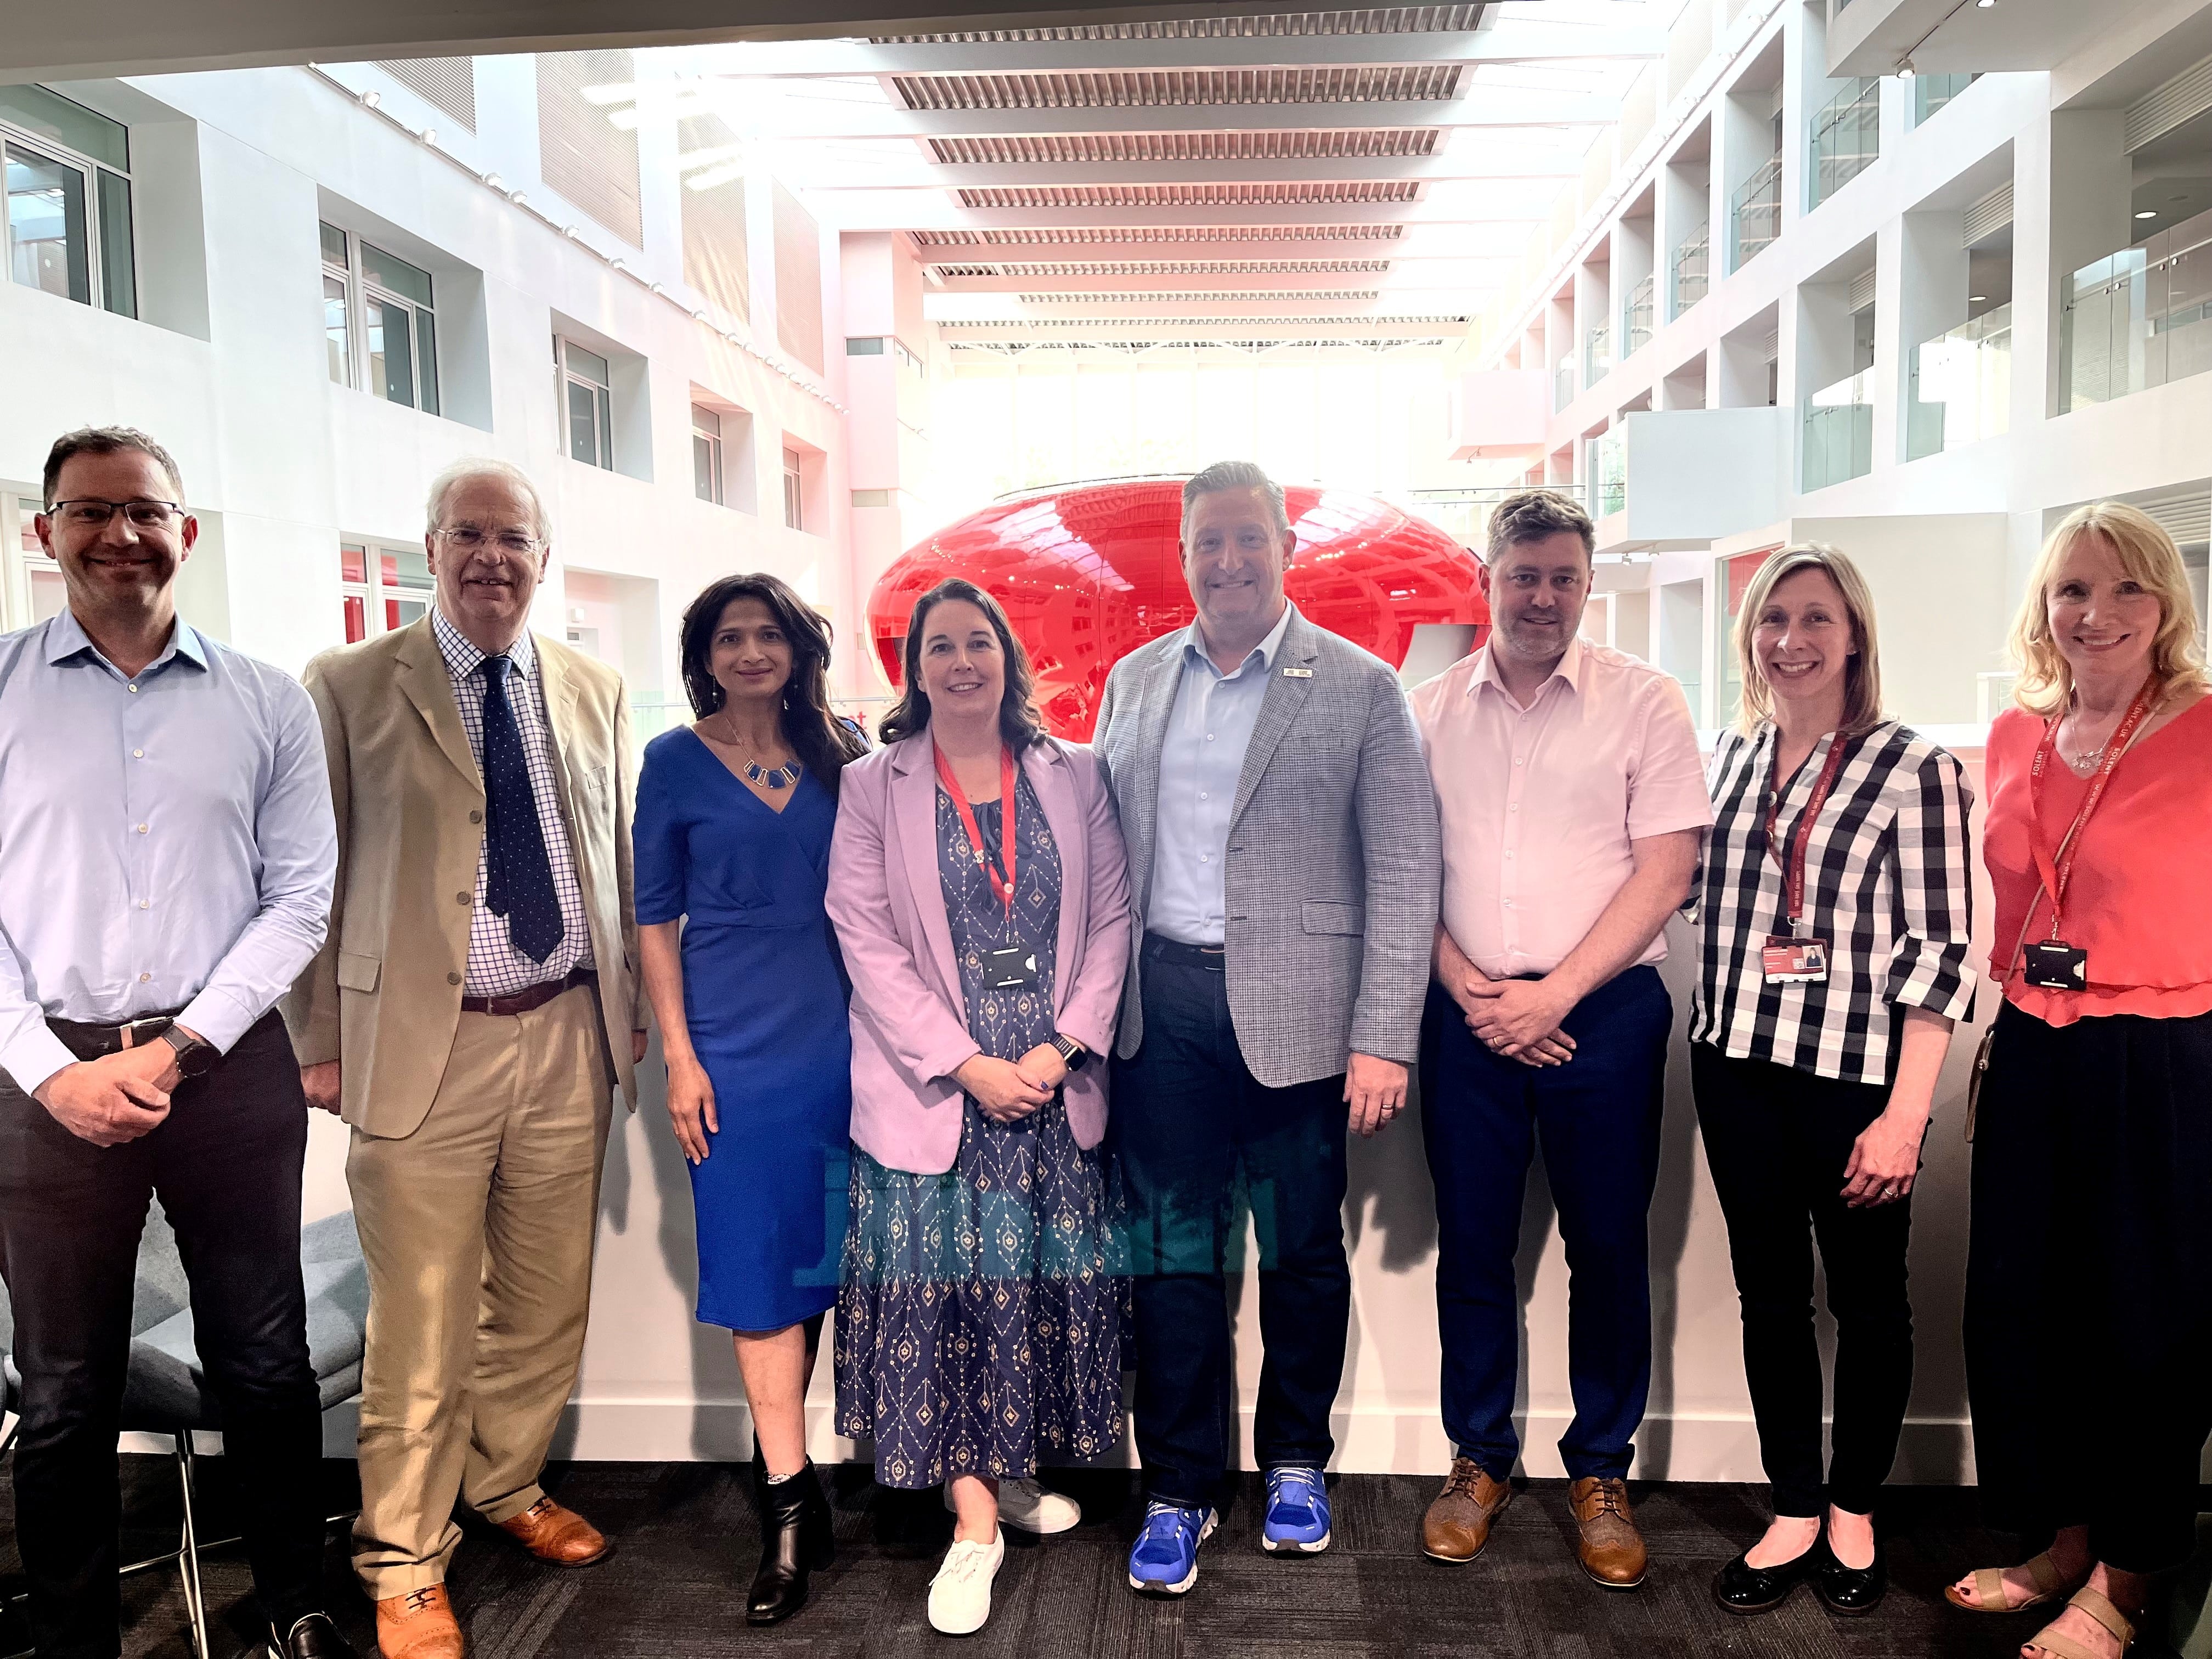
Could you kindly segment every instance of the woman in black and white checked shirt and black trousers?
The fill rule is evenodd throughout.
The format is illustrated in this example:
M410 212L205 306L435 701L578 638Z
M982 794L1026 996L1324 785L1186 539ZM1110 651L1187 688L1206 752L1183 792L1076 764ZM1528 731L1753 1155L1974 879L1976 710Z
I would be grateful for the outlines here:
M1712 1590L1765 1613L1809 1579L1836 1613L1871 1613L1887 1582L1871 1511L1913 1376L1911 1190L1975 984L1973 794L1951 754L1882 714L1874 602L1836 549L1759 568L1736 664L1743 712L1712 757L1692 887L1690 1077L1774 1522ZM1836 1316L1825 1482L1814 1241Z

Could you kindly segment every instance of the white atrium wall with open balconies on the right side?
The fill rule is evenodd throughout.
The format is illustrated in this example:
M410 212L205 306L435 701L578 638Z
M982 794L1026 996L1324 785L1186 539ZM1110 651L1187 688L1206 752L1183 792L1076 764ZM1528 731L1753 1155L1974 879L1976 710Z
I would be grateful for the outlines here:
M1650 131L1639 139L1621 135L1628 155L1586 188L1579 219L1557 228L1551 252L1531 261L1526 285L1478 325L1467 363L1551 367L1562 356L1559 338L1579 343L1593 327L1619 330L1624 294L1606 292L1606 265L1597 261L1644 234L1648 221L1635 215L1648 215L1657 192L1661 279L1652 336L1630 349L1617 334L1601 374L1575 376L1564 394L1546 385L1551 414L1524 422L1520 458L1480 462L1473 476L1573 478L1593 489L1601 551L1626 560L1604 573L1606 586L1697 595L1701 615L1677 630L1677 641L1697 635L1694 650L1661 637L1668 604L1646 606L1644 637L1617 644L1681 675L1705 726L1730 712L1712 672L1728 626L1717 555L1814 531L1867 555L1889 644L1891 712L1922 723L1986 719L1991 684L2002 699L2011 608L2059 513L2108 495L2183 504L2183 546L2203 557L2205 531L2188 526L2203 518L2194 502L2212 489L2212 374L2062 414L2066 276L2143 234L2146 226L2130 217L2141 204L2130 199L2126 106L2148 86L2141 64L2157 58L2161 31L2185 29L2203 7L2157 9L2157 27L2139 22L2124 38L2097 40L2051 73L1982 75L1927 119L1916 119L1924 93L1911 80L1880 80L1880 155L1818 206L1814 126L1847 88L1827 75L1825 7L1688 0L1677 33L1708 11L1712 51L1694 66L1646 71L1657 84ZM2174 51L2150 82L2179 73L2201 51ZM1772 144L1759 113L1772 104L1761 82L1774 77L1785 91L1778 239L1732 270L1734 192ZM2197 148L2203 164L2181 173L2212 173L2212 142L2199 137ZM1686 175L1703 177L1703 188L1686 192ZM2143 177L2143 168L2132 175ZM2006 190L2008 212L1995 206ZM1978 210L1997 215L2000 226L1982 246L2008 243L2008 392L2000 385L1993 394L2002 431L1911 458L1913 345L1966 321L1962 228ZM1668 252L1694 219L1710 226L1710 292L1670 314ZM1575 296L1571 316L1559 294ZM1871 427L1871 453L1860 476L1823 484L1807 473L1807 400L1856 367L1851 312L1867 299L1874 352L1863 396L1871 409L1860 418ZM1730 409L1741 420L1763 409L1770 358L1774 431L1747 447L1739 429L1708 422L1708 411ZM1699 385L1703 398L1694 396ZM1639 434L1639 422L1672 429ZM1608 431L1626 451L1617 493L1595 489L1586 442ZM1486 453L1498 456L1500 434L1482 436ZM1663 473L1639 471L1639 453ZM1772 460L1761 462L1761 453Z

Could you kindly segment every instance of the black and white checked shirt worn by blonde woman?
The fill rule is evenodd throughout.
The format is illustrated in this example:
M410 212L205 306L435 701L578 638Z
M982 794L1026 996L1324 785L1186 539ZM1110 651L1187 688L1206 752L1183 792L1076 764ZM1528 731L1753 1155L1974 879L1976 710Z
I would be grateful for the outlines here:
M1951 1020L1973 1006L1973 790L1949 752L1898 721L1843 739L1847 759L1805 845L1801 927L1829 942L1827 980L1767 984L1761 947L1790 931L1767 856L1774 741L1772 721L1756 737L1728 732L1708 772L1714 823L1686 907L1699 925L1690 1037L1736 1060L1889 1084L1896 1004ZM1820 739L1783 785L1785 856L1836 741Z

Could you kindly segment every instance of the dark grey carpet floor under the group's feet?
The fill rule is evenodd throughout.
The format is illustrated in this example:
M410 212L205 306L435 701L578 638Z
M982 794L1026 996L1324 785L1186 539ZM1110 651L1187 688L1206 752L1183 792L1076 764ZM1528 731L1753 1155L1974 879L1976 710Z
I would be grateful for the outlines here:
M166 1458L126 1458L128 1546L157 1548L175 1524ZM201 1462L204 1511L223 1524L223 1464ZM327 1464L332 1511L352 1504L354 1467ZM719 1464L564 1464L549 1489L615 1540L613 1559L580 1573L538 1566L504 1537L471 1528L453 1571L453 1601L476 1659L723 1659L726 1655L918 1655L956 1644L929 1630L925 1597L949 1520L936 1493L880 1493L865 1469L834 1473L838 1564L814 1579L814 1601L790 1624L748 1630L743 1588L759 1528L743 1469ZM1267 1659L2006 1659L2035 1630L2035 1615L1971 1617L1949 1608L1942 1586L1971 1566L2011 1559L2011 1540L1975 1522L1971 1491L1893 1489L1887 1502L1891 1593L1869 1619L1832 1617L1809 1590L1778 1613L1734 1619L1708 1582L1763 1524L1752 1486L1632 1486L1652 1546L1652 1575L1632 1595L1590 1586L1571 1553L1564 1482L1531 1482L1504 1515L1491 1548L1469 1566L1442 1566L1413 1548L1433 1480L1345 1475L1336 1482L1336 1546L1303 1562L1259 1553L1256 1480L1245 1482L1201 1557L1199 1586L1181 1601L1130 1595L1124 1553L1137 1524L1128 1475L1066 1473L1053 1484L1084 1502L1075 1533L1029 1540L1009 1533L991 1624L960 1652L1267 1655ZM13 1517L0 1484L0 1575L15 1566ZM168 1533L173 1535L173 1533ZM217 1659L246 1637L248 1575L237 1548L208 1568L217 1610ZM369 1606L332 1528L334 1610L363 1659L374 1652ZM188 1659L184 1599L173 1573L133 1579L124 1593L124 1652ZM20 1613L0 1652L27 1641ZM2150 1659L2163 1650L2139 1644Z

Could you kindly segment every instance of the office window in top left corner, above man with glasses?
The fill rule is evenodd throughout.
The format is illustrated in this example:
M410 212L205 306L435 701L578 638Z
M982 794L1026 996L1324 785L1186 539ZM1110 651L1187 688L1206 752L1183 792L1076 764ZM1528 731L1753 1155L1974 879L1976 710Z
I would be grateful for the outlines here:
M131 128L44 86L0 86L7 281L137 316Z

